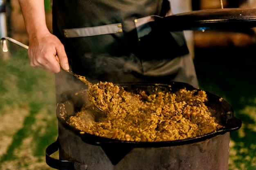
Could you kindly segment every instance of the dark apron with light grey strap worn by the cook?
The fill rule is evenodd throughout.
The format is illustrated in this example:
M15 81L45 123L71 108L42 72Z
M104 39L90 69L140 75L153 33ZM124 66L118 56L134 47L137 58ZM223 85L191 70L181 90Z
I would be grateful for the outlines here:
M168 0L54 0L53 29L73 72L92 83L181 81L198 87L183 33L147 24L166 15ZM81 87L65 72L56 74L57 95Z

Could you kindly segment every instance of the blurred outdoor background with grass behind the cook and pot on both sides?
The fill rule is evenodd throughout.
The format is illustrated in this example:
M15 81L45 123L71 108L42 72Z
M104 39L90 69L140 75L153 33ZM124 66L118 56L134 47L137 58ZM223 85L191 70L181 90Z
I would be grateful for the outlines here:
M220 8L220 0L170 0L173 13ZM256 8L256 0L223 0L224 8ZM52 31L50 0L45 0ZM229 169L256 170L255 30L185 31L201 89L221 96L243 125L231 133ZM28 45L18 0L0 0L0 36ZM29 65L27 50L0 50L0 169L50 170L45 148L58 136L54 74Z

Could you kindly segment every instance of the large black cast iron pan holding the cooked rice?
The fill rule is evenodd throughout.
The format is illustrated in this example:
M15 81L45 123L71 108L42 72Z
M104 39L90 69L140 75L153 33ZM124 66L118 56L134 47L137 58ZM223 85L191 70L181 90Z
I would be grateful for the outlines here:
M143 89L148 94L153 94L158 91L164 92L176 92L179 89L186 87L188 90L195 89L193 86L181 83L181 82L171 82L168 84L158 84L155 85L153 83L123 83L118 84L120 87L124 87L126 91L135 92L138 89ZM171 85L171 88L169 87ZM156 90L157 89L157 90ZM70 126L67 122L70 116L74 116L77 111L81 109L83 104L89 105L90 102L86 100L87 93L86 90L82 91L70 91L65 92L62 95L62 102L58 104L56 109L56 114L59 123L61 123L65 128L72 131L76 135L79 135L81 139L92 145L97 146L109 146L114 144L115 146L127 146L127 147L164 147L164 146L177 146L183 144L191 144L195 142L200 142L205 139L209 139L213 136L224 134L230 131L238 130L242 122L238 118L234 117L234 111L231 106L225 101L221 100L220 97L207 92L208 102L207 106L211 109L212 115L216 117L216 120L222 125L225 126L222 129L219 129L217 132L209 133L206 135L193 137L189 139L176 140L176 141L168 141L168 142L128 142L128 141L120 141L117 139L109 139L106 137L99 137L96 135L91 135L88 133L80 133L78 129Z

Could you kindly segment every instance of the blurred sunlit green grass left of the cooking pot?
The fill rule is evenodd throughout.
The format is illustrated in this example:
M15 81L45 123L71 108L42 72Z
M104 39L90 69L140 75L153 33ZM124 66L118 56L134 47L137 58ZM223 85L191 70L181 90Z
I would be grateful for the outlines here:
M58 136L54 74L29 65L27 50L0 52L0 169L50 169L45 148Z

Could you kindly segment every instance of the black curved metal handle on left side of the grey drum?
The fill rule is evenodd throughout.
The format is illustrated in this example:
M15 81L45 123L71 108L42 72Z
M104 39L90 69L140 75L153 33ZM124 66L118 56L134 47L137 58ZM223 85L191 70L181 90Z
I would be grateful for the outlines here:
M78 162L73 162L73 161L65 161L65 160L59 160L51 157L53 153L58 151L59 149L59 142L58 138L57 140L47 146L45 150L45 160L48 166L58 169L58 170L87 170L88 166L85 164L81 164Z

